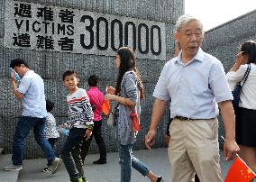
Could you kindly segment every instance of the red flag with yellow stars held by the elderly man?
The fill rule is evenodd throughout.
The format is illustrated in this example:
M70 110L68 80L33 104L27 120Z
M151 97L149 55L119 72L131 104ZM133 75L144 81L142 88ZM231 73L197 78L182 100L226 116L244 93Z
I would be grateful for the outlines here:
M229 169L224 182L249 182L255 177L255 173L241 158L236 158Z

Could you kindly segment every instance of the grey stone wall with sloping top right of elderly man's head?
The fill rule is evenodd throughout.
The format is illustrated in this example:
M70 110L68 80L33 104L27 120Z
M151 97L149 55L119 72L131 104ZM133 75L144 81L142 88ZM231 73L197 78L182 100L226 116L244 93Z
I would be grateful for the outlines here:
M220 59L225 72L232 68L238 47L243 41L256 40L256 10L206 32L203 50ZM224 135L221 117L219 137ZM223 142L219 138L220 142ZM222 145L221 145L222 146Z

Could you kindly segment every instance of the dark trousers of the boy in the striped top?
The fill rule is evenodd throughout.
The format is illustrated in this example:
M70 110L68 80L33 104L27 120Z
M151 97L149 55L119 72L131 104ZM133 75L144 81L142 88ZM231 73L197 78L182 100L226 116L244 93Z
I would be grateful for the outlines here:
M78 177L84 177L83 163L80 156L81 146L87 129L72 128L69 131L67 141L60 152L61 158L67 169L70 181L75 181Z

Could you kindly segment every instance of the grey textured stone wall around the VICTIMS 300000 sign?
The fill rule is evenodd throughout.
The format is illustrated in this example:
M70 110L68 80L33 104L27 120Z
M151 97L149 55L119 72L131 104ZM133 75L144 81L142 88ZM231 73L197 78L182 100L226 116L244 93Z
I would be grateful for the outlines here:
M100 77L99 87L101 90L105 90L105 86L114 86L116 71L114 68L114 56L19 50L4 47L5 1L8 0L0 0L0 146L3 145L7 153L12 153L14 128L22 113L22 105L14 98L10 86L8 66L11 59L18 57L26 59L30 67L44 79L46 97L56 105L53 115L56 117L58 123L63 123L67 119L67 104L65 99L68 92L62 85L61 80L61 74L65 69L71 68L78 71L81 77L80 87L86 89L87 77L91 74L98 75ZM165 23L167 59L170 59L173 54L174 44L172 34L174 24L178 16L184 13L184 1L179 0L21 0L20 2L55 5ZM148 131L151 120L151 106L154 100L151 95L160 75L160 70L166 60L138 59L138 67L144 78L146 99L142 103L142 131L135 143L135 150L144 149L143 137ZM114 137L114 129L106 126L105 119L106 117L103 118L103 136L107 151L116 151L117 142ZM164 146L163 135L167 123L168 117L165 116L158 127L155 147ZM58 150L64 140L65 138L61 136L58 141ZM95 142L92 143L90 152L97 152ZM40 158L41 156L41 150L35 143L31 132L26 140L25 158L32 159Z

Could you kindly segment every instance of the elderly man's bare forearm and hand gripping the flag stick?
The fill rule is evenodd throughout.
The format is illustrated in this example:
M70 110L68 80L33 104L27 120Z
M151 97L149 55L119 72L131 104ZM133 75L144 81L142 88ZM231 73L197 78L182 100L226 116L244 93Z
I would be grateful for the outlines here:
M240 149L235 142L235 118L231 101L219 103L221 114L224 122L224 159L233 159Z

